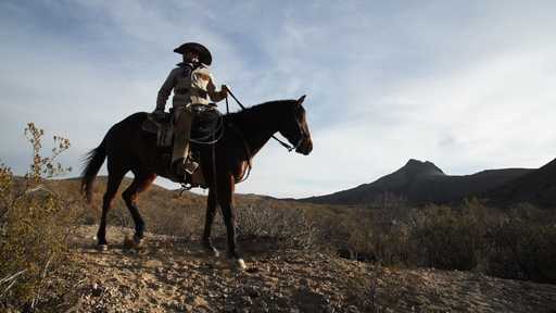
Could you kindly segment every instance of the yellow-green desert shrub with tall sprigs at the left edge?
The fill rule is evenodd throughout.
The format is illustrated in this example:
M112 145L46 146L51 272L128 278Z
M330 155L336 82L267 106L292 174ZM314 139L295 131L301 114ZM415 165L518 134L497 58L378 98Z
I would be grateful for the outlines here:
M46 301L61 272L71 271L74 253L66 245L72 226L79 220L76 199L66 200L47 187L46 179L71 171L53 163L70 148L70 141L54 137L52 156L40 155L43 132L28 124L25 136L33 145L30 172L16 179L10 167L0 168L0 309L38 308L51 311ZM21 181L20 181L21 180ZM77 205L79 206L79 205ZM81 210L83 211L83 210ZM64 291L62 291L64 292ZM47 297L49 296L49 297ZM55 301L54 301L55 302ZM53 310L52 310L53 311Z

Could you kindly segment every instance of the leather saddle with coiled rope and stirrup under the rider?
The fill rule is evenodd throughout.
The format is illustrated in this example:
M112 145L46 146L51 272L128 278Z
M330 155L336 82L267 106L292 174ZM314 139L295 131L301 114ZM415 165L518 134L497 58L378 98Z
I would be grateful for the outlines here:
M222 137L222 113L216 110L215 105L193 103L189 107L190 113L193 115L193 123L191 127L190 142L210 145L216 142ZM142 129L148 133L156 134L156 152L162 154L164 160L164 168L166 176L175 181L180 183L184 189L191 189L193 187L206 188L204 176L202 172L202 163L199 151L194 150L194 146L190 145L189 155L193 162L199 164L199 167L192 175L186 177L186 181L181 181L176 177L172 171L172 150L174 147L174 126L172 120L174 117L174 108L169 113L163 113L160 116L150 115L141 125Z

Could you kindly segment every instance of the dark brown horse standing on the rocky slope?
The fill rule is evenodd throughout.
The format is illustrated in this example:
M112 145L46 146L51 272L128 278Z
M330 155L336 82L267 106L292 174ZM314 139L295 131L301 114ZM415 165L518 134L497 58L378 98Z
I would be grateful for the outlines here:
M228 258L237 268L244 268L236 246L235 185L245 177L251 159L273 137L280 133L294 146L296 152L307 155L313 149L311 134L305 122L305 109L300 100L267 102L224 115L222 137L216 143L191 143L191 150L200 153L205 186L208 187L206 223L203 246L217 254L211 242L211 227L219 205L227 227ZM103 197L102 218L98 233L98 248L108 249L105 228L109 213L124 175L131 171L131 185L122 193L136 225L134 241L142 242L144 223L137 208L137 197L147 190L157 176L168 177L162 153L157 152L156 134L142 130L147 113L136 113L115 124L104 140L86 156L81 186L89 201L92 184L104 159L108 158L109 179ZM213 156L214 155L214 156Z

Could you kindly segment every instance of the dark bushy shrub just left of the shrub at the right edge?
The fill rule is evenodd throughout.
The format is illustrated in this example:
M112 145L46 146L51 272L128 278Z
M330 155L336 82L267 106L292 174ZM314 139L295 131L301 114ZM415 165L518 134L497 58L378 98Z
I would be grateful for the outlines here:
M478 202L464 201L458 210L429 204L415 215L415 252L422 256L422 265L468 271L479 264L488 246L489 215Z

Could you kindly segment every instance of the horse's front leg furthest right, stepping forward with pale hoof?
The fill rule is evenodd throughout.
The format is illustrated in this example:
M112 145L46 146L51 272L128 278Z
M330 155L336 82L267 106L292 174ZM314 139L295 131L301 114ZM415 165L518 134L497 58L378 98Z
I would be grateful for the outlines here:
M245 270L245 262L239 255L237 241L236 241L236 203L233 201L233 178L229 185L222 184L218 189L218 203L220 204L222 215L226 224L227 238L228 238L228 259L231 266L236 270Z

